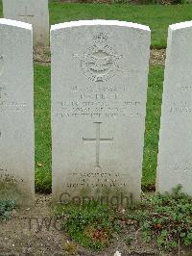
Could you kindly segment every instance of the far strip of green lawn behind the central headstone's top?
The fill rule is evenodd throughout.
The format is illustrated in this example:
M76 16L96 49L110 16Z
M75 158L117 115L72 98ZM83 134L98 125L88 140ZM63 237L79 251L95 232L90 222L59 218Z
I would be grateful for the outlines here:
M63 4L52 0L49 4L50 23L80 19L118 19L150 26L152 46L166 46L168 26L173 23L191 20L192 5L107 5L107 4ZM3 16L0 0L0 16Z

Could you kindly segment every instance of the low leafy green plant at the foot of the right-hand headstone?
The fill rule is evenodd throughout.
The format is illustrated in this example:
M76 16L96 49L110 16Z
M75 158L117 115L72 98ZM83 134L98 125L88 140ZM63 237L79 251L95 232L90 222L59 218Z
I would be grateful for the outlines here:
M173 193L149 196L143 207L132 218L139 222L146 242L155 239L165 249L192 244L192 197L181 192L180 185Z

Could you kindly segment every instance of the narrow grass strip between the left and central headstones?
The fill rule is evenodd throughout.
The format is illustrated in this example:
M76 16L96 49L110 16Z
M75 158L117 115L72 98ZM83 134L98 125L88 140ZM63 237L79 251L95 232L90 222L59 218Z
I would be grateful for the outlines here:
M51 192L50 66L35 65L36 191Z

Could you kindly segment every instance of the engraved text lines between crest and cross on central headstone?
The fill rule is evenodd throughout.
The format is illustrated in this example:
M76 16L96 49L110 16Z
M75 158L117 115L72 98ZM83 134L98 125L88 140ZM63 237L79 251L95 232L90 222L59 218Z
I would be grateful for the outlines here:
M139 117L140 101L125 99L125 87L85 87L83 90L73 87L70 90L74 100L57 101L56 116L67 117Z

